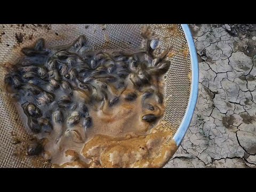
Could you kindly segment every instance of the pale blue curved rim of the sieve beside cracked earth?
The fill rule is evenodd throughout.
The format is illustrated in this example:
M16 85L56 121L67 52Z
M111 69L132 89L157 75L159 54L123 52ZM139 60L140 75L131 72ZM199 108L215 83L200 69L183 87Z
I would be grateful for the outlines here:
M191 119L193 117L193 114L196 108L197 97L198 97L198 81L199 81L198 61L197 61L197 53L196 53L196 47L194 44L194 39L192 37L192 34L187 24L181 24L181 27L185 33L187 43L188 43L189 53L190 53L191 90L190 90L190 96L189 96L186 113L182 119L179 129L177 130L177 132L174 134L174 137L173 137L173 140L176 142L177 146L180 145L183 138L185 137L185 134L188 130Z

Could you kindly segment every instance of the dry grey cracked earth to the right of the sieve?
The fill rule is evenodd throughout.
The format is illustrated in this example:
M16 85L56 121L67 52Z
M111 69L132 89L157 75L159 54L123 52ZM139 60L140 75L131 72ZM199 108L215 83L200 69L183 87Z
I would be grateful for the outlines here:
M165 167L256 167L256 25L190 25L199 93Z

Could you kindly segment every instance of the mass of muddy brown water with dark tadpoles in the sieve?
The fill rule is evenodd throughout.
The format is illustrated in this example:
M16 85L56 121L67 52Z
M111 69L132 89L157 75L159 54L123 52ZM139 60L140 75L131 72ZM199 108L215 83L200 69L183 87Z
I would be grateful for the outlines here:
M54 167L159 167L177 149L164 113L168 51L94 52L84 36L45 49L43 39L7 64L6 90L37 139L28 155ZM38 147L39 146L39 147Z

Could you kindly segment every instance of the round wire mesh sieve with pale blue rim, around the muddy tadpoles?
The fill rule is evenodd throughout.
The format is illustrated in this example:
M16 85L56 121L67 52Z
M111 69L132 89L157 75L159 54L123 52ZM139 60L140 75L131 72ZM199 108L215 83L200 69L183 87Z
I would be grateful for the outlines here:
M46 47L72 43L85 35L97 50L137 50L145 25L0 25L0 167L49 167L42 159L17 156L19 141L29 135L4 92L3 66L20 56L22 47L44 38ZM159 39L159 53L172 47L171 67L164 86L164 121L172 127L179 146L190 124L198 94L198 62L194 41L187 25L148 25L151 38ZM18 139L17 139L18 138Z

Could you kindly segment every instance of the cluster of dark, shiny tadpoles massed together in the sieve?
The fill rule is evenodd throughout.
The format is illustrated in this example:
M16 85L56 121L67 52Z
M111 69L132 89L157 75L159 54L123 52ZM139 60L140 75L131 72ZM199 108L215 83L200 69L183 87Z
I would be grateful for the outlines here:
M21 50L24 55L17 63L6 65L5 87L20 103L35 134L50 133L54 124L62 127L61 134L75 132L72 127L79 122L87 129L93 124L89 106L101 103L99 110L106 105L114 107L128 83L141 92L143 101L154 94L158 103L163 102L161 91L145 88L170 67L164 59L168 51L153 56L157 44L157 40L145 39L144 46L134 52L103 52L94 51L85 36L58 49L46 49L44 39L38 39L34 47ZM85 102L76 101L74 91L82 93ZM137 97L129 92L125 100L132 102ZM154 110L154 106L145 107ZM142 121L151 123L157 118L150 113L142 116Z

